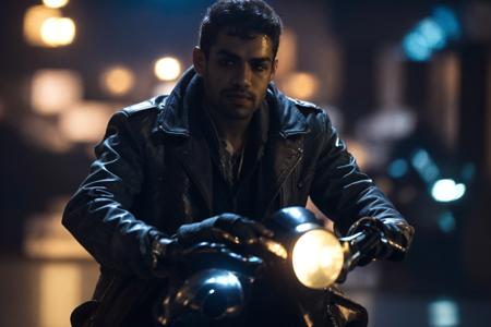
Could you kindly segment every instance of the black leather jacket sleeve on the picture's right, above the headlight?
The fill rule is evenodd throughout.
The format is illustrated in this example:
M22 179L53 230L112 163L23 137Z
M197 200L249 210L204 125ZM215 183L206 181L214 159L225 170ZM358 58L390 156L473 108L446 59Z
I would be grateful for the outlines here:
M392 241L408 247L414 228L373 181L359 170L325 112L321 113L321 119L324 131L311 189L315 205L333 219L336 231L342 235L359 219L373 217L384 223ZM387 258L402 259L395 254Z

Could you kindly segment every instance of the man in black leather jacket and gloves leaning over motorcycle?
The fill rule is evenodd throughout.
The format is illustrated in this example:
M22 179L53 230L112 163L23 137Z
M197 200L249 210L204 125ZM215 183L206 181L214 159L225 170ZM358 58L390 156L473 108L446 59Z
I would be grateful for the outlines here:
M152 284L182 249L230 235L255 243L272 235L261 221L308 196L339 234L383 232L402 249L379 242L366 263L404 256L412 228L358 170L325 111L272 84L280 31L263 1L215 3L172 93L112 117L63 215L101 266L74 324L89 312L95 326L151 326ZM288 316L278 296L264 299L276 322Z

